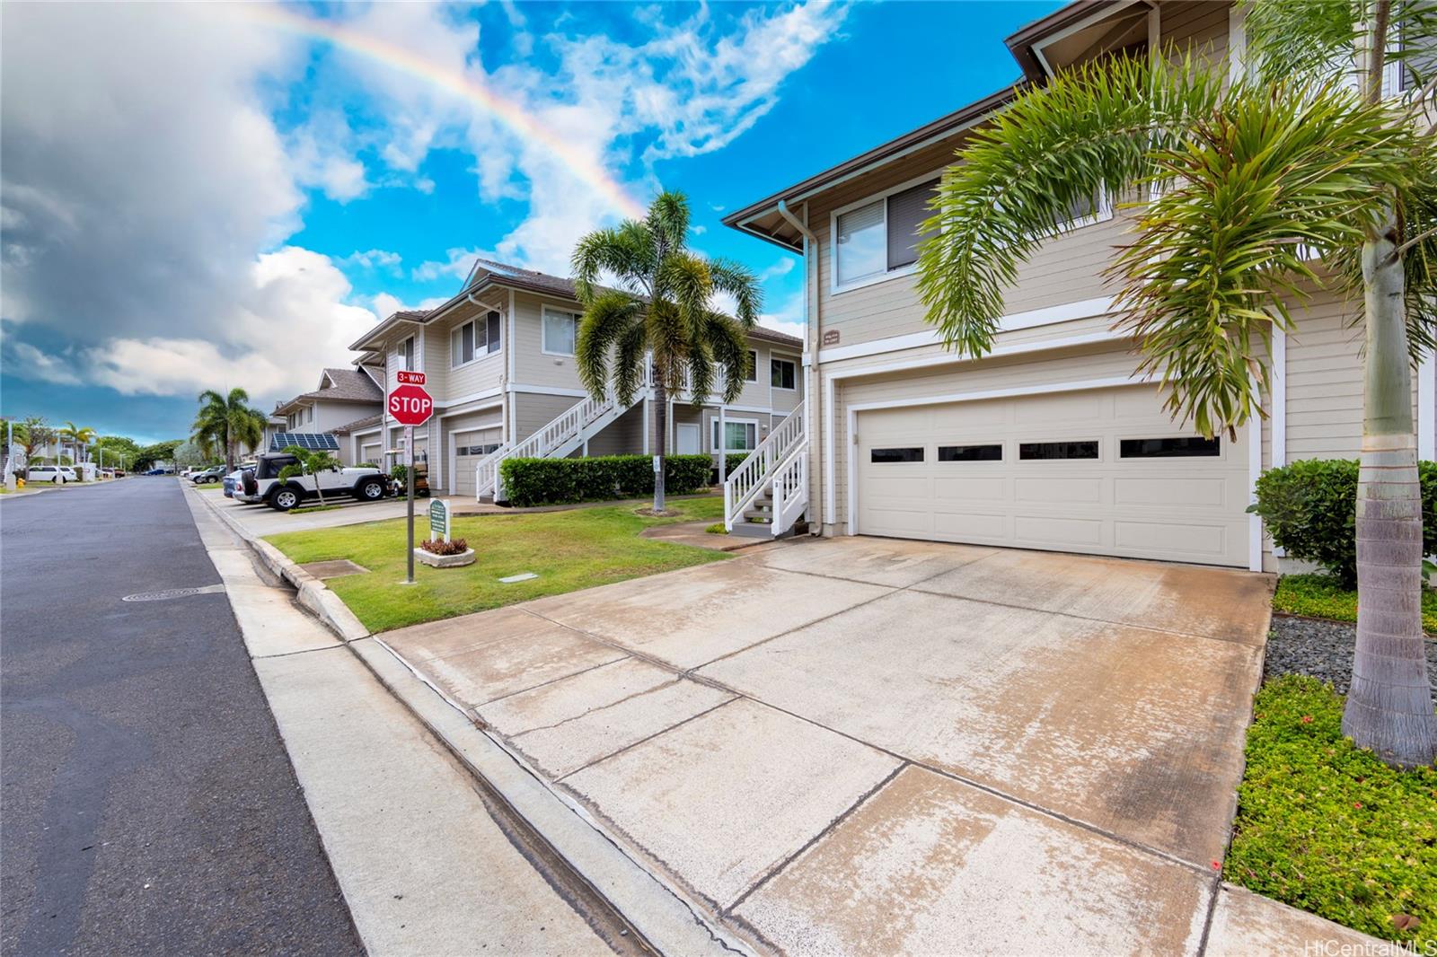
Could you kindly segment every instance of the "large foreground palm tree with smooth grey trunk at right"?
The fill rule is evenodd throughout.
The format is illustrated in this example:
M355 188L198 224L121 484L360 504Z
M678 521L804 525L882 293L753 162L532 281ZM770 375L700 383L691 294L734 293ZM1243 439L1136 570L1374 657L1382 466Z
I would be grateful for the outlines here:
M1437 144L1420 105L1433 86L1404 101L1381 80L1395 30L1404 49L1431 49L1437 14L1391 0L1263 0L1246 13L1252 76L1226 82L1226 62L1154 52L1020 92L944 172L918 289L944 342L983 355L1020 263L1091 197L1131 198L1109 269L1118 328L1165 408L1209 437L1266 415L1267 343L1299 325L1295 305L1313 290L1349 299L1367 388L1342 730L1388 763L1428 764L1410 366L1437 325Z

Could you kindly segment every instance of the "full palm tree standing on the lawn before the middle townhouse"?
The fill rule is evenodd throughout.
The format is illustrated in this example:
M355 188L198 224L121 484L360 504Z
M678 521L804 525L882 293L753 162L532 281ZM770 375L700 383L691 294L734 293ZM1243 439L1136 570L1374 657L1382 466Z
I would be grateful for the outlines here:
M687 249L688 200L664 193L642 220L625 220L579 240L573 250L573 286L583 303L575 358L583 387L595 398L609 388L609 362L619 402L629 405L644 382L645 364L654 375L654 512L664 510L664 437L667 402L690 375L696 408L723 375L724 402L743 389L747 371L747 330L762 303L757 279L744 266L706 260ZM616 285L598 285L605 277ZM737 319L714 308L716 295L734 300Z

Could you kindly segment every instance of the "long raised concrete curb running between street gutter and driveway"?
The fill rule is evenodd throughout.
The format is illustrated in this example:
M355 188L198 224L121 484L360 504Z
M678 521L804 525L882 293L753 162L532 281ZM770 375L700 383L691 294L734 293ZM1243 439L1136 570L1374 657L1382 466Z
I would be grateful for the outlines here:
M592 818L566 802L440 691L371 635L323 582L269 542L257 539L194 493L277 578L299 591L300 605L333 631L375 678L502 802L573 877L602 897L660 954L754 956L753 946L718 925L706 908L624 851Z

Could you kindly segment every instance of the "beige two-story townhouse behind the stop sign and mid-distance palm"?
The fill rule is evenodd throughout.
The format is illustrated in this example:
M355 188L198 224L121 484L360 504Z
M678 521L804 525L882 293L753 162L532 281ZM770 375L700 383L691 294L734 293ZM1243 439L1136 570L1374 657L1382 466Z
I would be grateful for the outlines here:
M460 292L428 312L397 312L352 349L382 353L385 388L399 369L425 374L435 414L414 438L430 487L450 494L491 494L496 457L647 454L657 415L645 391L628 408L593 402L575 368L581 306L568 279L479 260ZM717 395L694 408L671 399L665 445L714 453L718 422L730 451L747 451L799 405L802 341L772 329L749 333L752 371L740 397ZM388 448L402 448L402 428L385 418ZM526 444L527 443L527 444ZM486 463L489 486L476 478Z

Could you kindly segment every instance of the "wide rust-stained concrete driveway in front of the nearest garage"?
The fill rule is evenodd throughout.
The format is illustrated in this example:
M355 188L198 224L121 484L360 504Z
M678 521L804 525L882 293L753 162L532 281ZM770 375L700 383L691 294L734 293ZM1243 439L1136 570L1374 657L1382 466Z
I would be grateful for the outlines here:
M856 537L382 639L759 946L1198 953L1270 588Z

